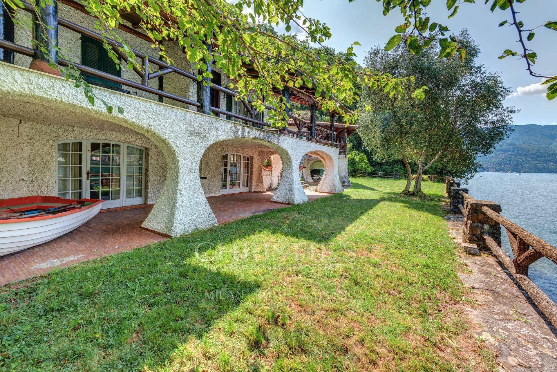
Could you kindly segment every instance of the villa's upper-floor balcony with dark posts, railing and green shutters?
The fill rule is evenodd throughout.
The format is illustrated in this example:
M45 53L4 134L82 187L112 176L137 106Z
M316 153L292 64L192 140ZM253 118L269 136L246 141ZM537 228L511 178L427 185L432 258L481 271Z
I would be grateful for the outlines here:
M27 13L30 17L33 7L25 2L23 4L25 7L19 12ZM0 8L0 11L7 14L8 9ZM354 133L355 126L335 124L336 112L329 112L329 122L317 122L316 110L319 107L315 102L310 102L307 97L297 95L285 87L283 90L273 90L273 94L283 96L286 102L308 106L309 118L297 118L291 115L287 108L287 116L290 118L288 123L282 128L272 126L267 120L268 112L275 110L272 106L266 105L263 112L258 112L251 99L243 99L227 88L232 80L214 65L208 66L213 75L211 86L199 82L197 69L173 40L163 41L163 45L174 63L166 63L159 57L149 55L153 53L152 40L139 30L136 19L138 16L135 13L126 13L121 14L121 17L127 23L120 25L115 34L132 47L131 52L141 61L141 68L128 63L128 57L119 51L118 47L122 47L119 42L103 39L99 33L91 31L94 29L95 18L89 15L81 3L73 0L58 1L57 11L46 14L43 20L51 23L52 30L56 30L55 39L58 47L64 51L64 55L71 57L71 62L57 58L58 65L69 66L72 63L91 85L186 109L195 108L199 112L236 123L334 146L339 149L339 154L346 154L346 142ZM14 28L11 17L0 17L0 61L30 66L31 58L36 57L37 50L33 48L25 31ZM119 68L109 56L102 45L103 41L114 47L123 68ZM55 51L51 52L56 56ZM130 68L126 68L126 65ZM257 74L255 68L252 72L254 75ZM315 95L314 87L302 88L308 94Z

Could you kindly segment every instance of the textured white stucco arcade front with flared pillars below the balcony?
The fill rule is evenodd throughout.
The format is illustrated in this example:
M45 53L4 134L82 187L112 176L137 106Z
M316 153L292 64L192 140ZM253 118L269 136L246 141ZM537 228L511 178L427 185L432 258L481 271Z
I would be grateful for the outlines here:
M217 224L199 182L202 155L217 141L250 139L276 151L284 170L274 201L290 204L307 201L299 181L299 164L308 151L319 151L333 159L335 170L329 174L335 186L326 191L342 191L336 169L336 148L101 87L94 87L97 103L91 106L74 85L75 82L61 77L0 62L0 105L5 115L33 120L32 115L36 114L35 120L42 123L50 120L52 124L117 124L145 135L158 146L165 158L167 177L157 202L142 224L145 228L177 236ZM124 112L109 114L100 99L114 107L123 107Z

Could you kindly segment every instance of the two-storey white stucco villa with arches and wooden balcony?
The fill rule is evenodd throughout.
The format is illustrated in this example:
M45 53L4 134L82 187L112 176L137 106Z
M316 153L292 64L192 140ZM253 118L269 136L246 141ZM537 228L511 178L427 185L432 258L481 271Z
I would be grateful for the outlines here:
M213 87L198 89L196 71L173 41L164 47L175 66L148 58L151 74L117 70L86 13L72 0L44 12L58 46L79 62L96 95L123 114L109 114L99 100L90 105L75 82L47 73L43 51L0 17L0 199L154 204L142 226L177 236L217 224L207 197L276 189L272 201L305 203L300 178L308 180L314 161L324 169L317 191L339 193L350 185L346 140L355 127L335 124L334 112L331 123L317 123L315 103L292 94L310 106L310 119L292 117L284 129L270 128L265 112L233 99L227 76L214 66ZM145 58L151 42L134 27L133 13L122 17L129 23L119 36ZM268 158L271 170L263 169Z

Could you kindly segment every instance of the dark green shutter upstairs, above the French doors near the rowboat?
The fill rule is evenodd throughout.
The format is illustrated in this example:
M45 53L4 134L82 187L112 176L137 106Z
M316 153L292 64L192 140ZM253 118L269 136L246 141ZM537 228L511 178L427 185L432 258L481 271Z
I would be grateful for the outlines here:
M121 70L116 68L116 63L109 57L108 52L100 41L87 36L81 36L81 64L95 68L110 75L120 76ZM82 74L85 81L90 84L104 86L109 89L121 90L121 85L115 82L101 79L100 77Z

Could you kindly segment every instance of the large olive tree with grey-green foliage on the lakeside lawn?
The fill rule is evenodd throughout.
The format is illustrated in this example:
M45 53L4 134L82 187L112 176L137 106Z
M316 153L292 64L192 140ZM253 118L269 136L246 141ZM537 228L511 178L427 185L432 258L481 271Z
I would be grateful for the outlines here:
M363 105L374 111L361 116L360 135L379 156L402 156L408 173L405 193L422 194L422 174L436 162L455 177L471 177L480 167L477 156L491 153L512 130L516 110L502 103L509 89L498 74L478 65L479 49L467 31L457 37L468 51L463 60L439 59L439 48L433 45L419 56L403 46L391 51L376 47L367 55L368 67L411 75L417 85L430 87L419 103L409 95L364 92ZM412 191L409 158L416 164Z

